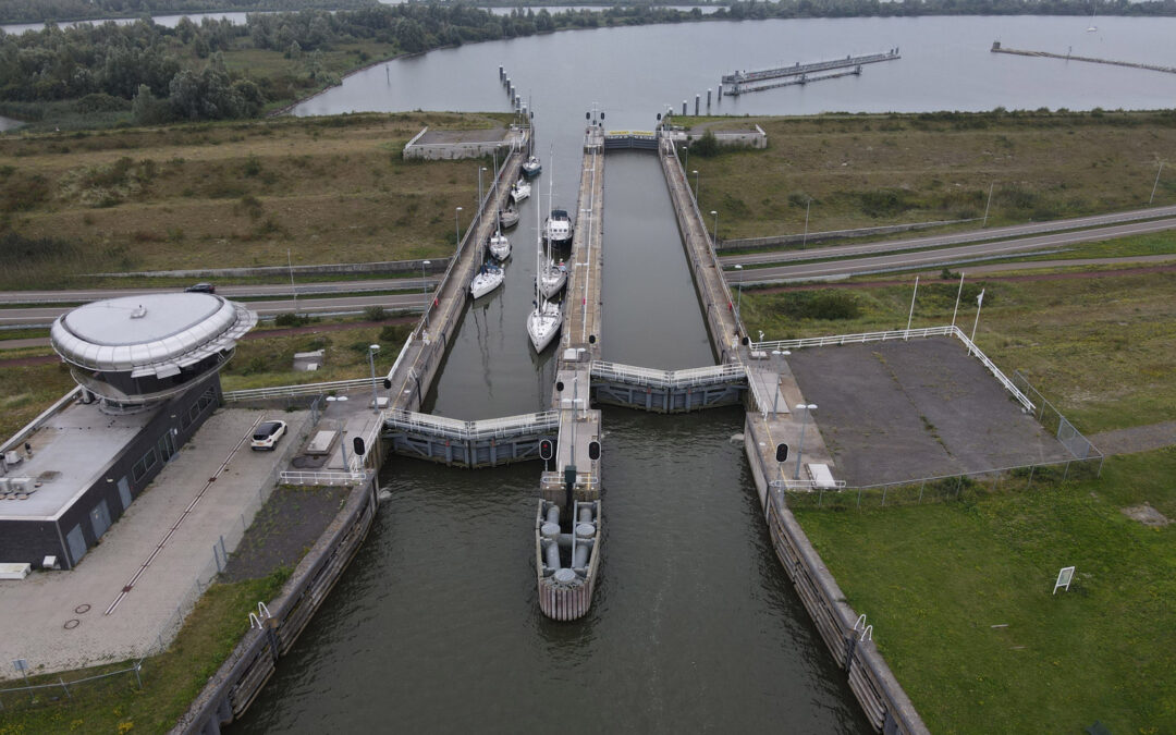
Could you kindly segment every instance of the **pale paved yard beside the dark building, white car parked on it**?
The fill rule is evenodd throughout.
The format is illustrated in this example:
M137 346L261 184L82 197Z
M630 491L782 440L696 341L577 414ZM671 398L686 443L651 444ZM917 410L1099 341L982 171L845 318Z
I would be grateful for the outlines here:
M216 412L72 572L39 572L0 581L0 659L27 659L41 674L149 653L174 635L179 613L199 594L196 579L215 573L213 544L239 539L273 488L279 452L250 452L260 419L290 425L298 441L306 412ZM227 463L222 469L221 465ZM215 482L209 479L215 476ZM203 492L149 566L143 563ZM228 550L232 550L230 548ZM118 608L106 609L142 569ZM76 621L74 623L73 621ZM69 626L68 628L66 626ZM11 677L11 667L0 677Z

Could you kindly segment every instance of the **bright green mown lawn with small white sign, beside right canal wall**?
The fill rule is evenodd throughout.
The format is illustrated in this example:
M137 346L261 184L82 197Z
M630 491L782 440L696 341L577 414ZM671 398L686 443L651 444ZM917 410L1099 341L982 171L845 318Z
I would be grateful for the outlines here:
M1102 480L796 514L933 733L1172 733L1176 526L1121 513L1176 517L1172 476L1168 449Z

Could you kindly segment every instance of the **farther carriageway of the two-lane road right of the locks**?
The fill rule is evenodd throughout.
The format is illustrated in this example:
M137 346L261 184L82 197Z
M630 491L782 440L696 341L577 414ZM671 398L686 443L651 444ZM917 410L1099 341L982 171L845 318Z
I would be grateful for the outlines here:
M924 238L908 238L904 240L887 240L882 242L863 242L861 245L841 245L804 250L775 250L748 253L746 255L723 255L719 259L719 262L729 268L736 263L748 266L796 262L802 260L824 260L828 258L846 258L850 255L877 255L881 253L917 250L922 248L946 247L949 245L1000 240L1004 238L1021 238L1024 235L1064 232L1068 229L1081 229L1087 227L1104 227L1108 225L1121 225L1124 222L1137 222L1140 220L1154 220L1157 218L1176 218L1176 206L1152 207L1148 209L1135 209L1131 212L1117 212L1115 214L1100 214L1069 220L1054 220L1050 222L1010 225L1008 227L994 227L991 229L973 229L948 235L929 235Z

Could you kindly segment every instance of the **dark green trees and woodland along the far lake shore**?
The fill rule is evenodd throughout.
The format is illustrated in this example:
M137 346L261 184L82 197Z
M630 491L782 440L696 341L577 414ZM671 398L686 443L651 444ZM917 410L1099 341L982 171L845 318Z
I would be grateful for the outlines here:
M55 1L55 0L53 0ZM116 2L121 0L96 0ZM131 1L131 0L126 0ZM140 0L141 1L141 0ZM226 0L228 1L228 0ZM1116 2L1104 14L1176 15L1176 0ZM846 18L854 15L1073 14L1085 15L1088 0L780 0L734 2L711 15L700 8L615 6L600 12L546 8L495 15L465 4L374 5L353 11L249 14L245 24L205 18L167 28L147 19L47 26L20 35L0 32L0 103L76 101L75 112L128 109L140 123L219 120L259 114L268 103L339 83L325 53L341 44L380 45L396 53L606 26L701 21L707 19ZM229 71L227 54L260 49L290 62L280 72ZM368 60L366 52L358 62ZM354 60L342 64L358 66ZM339 68L339 65L335 65Z

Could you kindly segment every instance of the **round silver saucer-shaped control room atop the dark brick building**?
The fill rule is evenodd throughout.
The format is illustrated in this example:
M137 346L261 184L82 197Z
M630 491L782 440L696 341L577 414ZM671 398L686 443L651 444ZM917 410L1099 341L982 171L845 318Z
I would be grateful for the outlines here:
M220 370L258 322L240 303L202 293L94 301L53 323L53 349L109 412L146 408Z

